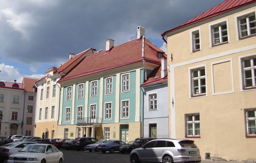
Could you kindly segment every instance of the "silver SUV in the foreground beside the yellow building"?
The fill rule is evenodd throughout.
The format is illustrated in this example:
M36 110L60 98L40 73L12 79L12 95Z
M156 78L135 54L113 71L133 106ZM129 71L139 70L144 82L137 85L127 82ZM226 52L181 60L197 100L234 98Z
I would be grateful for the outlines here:
M193 140L155 139L142 145L141 148L132 150L130 161L131 163L197 163L201 162L201 156Z

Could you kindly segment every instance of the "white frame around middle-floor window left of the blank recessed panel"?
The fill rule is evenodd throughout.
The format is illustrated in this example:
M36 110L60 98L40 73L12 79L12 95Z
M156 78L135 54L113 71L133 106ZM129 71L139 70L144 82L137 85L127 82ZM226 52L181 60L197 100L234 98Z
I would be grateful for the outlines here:
M194 69L199 69L199 68L203 68L204 67L204 71L205 71L205 92L203 94L198 94L198 95L193 95L193 84L192 84L192 70ZM198 65L198 66L194 66L194 67L190 67L188 68L188 80L189 80L189 98L199 98L199 97L205 97L208 96L208 91L207 91L207 66L206 64L203 65Z

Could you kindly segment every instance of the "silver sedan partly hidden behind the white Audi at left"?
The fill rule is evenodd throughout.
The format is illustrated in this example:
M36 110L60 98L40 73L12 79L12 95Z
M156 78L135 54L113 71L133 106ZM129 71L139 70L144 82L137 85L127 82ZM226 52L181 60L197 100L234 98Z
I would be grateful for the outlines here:
M6 152L8 155L11 155L11 154L17 153L18 150L22 149L23 147L27 146L28 144L35 144L35 143L24 142L24 141L11 142L11 143L5 144L3 146L0 146L0 151Z

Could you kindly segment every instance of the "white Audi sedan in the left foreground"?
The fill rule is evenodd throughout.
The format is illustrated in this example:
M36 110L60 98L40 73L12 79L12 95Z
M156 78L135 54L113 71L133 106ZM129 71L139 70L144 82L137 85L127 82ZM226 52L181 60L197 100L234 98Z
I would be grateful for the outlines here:
M51 144L30 144L9 156L7 163L63 163L63 153Z

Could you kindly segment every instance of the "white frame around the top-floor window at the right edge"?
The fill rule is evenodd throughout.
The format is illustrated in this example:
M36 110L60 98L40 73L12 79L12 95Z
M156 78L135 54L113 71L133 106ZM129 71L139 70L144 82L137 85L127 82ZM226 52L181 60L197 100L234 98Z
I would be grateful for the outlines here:
M239 41L240 39L243 39L243 38L247 38L248 36L256 36L256 34L252 34L252 35L249 35L248 31L249 31L249 28L248 28L248 22L247 22L247 36L244 36L244 37L241 37L240 36L240 25L239 25L239 19L241 17L246 17L246 16L249 16L249 15L255 15L256 17L256 9L253 9L253 10L250 10L250 11L247 11L247 12L243 12L239 15L235 15L235 26L236 26L236 41Z

